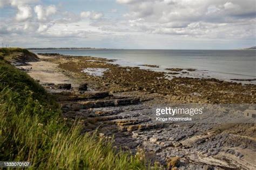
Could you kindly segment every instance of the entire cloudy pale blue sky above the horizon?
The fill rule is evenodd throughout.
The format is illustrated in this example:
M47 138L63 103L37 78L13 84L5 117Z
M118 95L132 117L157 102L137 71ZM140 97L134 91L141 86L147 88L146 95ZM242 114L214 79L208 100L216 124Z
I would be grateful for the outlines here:
M12 47L239 49L256 46L255 0L0 0Z

